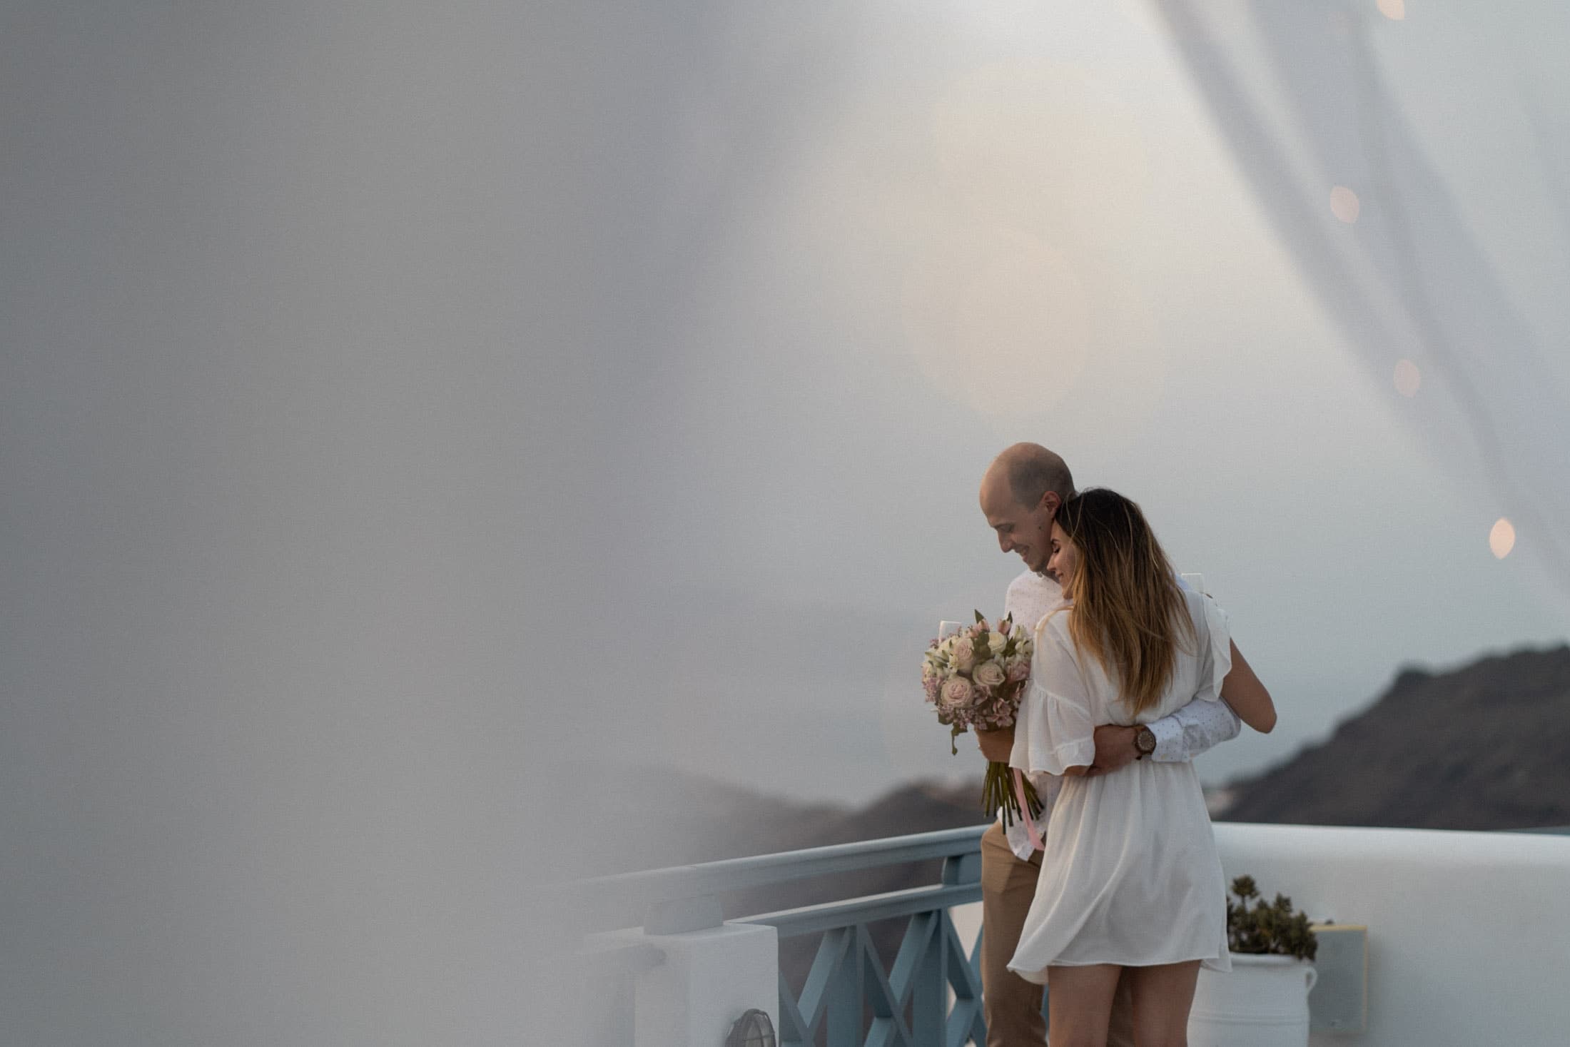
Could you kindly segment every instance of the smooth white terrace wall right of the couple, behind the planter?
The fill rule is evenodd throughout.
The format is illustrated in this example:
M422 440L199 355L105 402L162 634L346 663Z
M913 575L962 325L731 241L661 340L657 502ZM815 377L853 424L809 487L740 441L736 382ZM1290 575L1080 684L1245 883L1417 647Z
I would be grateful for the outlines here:
M1369 1022L1316 1047L1570 1038L1570 837L1218 823L1228 882L1369 929Z

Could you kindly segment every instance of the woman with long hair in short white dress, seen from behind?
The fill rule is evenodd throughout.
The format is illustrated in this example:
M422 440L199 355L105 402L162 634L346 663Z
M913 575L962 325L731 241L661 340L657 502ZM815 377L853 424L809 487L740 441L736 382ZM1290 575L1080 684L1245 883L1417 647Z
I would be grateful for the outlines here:
M1105 1045L1124 969L1135 1042L1181 1047L1199 967L1231 969L1210 816L1192 763L1086 775L1094 731L1220 702L1223 689L1256 730L1275 708L1220 606L1179 584L1137 504L1086 490L1058 510L1050 545L1064 603L1036 626L1010 763L1061 788L1010 969L1047 984L1052 1047Z

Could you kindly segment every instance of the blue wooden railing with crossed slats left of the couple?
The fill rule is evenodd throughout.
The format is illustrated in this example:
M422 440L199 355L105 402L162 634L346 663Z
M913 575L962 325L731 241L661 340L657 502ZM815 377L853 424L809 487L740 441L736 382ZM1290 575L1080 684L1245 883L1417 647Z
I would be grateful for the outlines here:
M772 926L780 940L821 934L801 992L779 978L780 1042L805 1047L961 1047L986 1042L977 942L959 940L948 910L981 899L980 841L986 826L868 840L788 854L728 859L647 873L579 881L564 901L589 931L642 925L647 934L719 926L721 898L739 890L942 860L939 882L733 918ZM893 962L884 965L871 925L904 918ZM645 951L601 956L630 983L636 967L659 962ZM953 1005L948 990L953 990ZM612 1008L626 1011L626 1003Z

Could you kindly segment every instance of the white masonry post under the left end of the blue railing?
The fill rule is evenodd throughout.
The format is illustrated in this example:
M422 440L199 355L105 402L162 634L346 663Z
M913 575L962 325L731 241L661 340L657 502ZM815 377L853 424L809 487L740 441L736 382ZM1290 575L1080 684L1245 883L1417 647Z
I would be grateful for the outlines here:
M619 931L663 961L634 980L634 1047L722 1047L750 1008L779 1028L779 937L771 926L727 923L685 934Z

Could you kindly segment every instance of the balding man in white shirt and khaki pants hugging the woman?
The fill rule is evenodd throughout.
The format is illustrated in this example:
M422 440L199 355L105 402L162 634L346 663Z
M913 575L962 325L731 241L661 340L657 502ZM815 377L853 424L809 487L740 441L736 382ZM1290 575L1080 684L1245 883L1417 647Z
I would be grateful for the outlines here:
M1025 571L1008 586L1003 612L1014 622L1035 626L1052 607L1063 603L1055 578L1046 573L1052 554L1052 520L1058 507L1074 498L1074 477L1061 457L1041 444L1014 444L992 460L981 479L981 513L997 532L1003 553L1017 553ZM1096 763L1091 774L1108 774L1137 758L1193 760L1212 746L1236 738L1242 724L1225 702L1193 702L1171 716L1138 727L1112 724L1096 728ZM981 755L1008 763L1014 747L1013 728L977 731ZM1047 810L1035 823L1038 838L1046 838L1052 813L1050 794L1041 797ZM986 1016L986 1047L1039 1047L1047 1039L1041 1016L1041 986L1008 970L1019 945L1025 914L1036 895L1041 851L1030 832L1016 819L1003 830L1002 816L981 835L981 992ZM1108 1047L1134 1047L1134 1006L1129 980L1118 983L1112 1003Z

